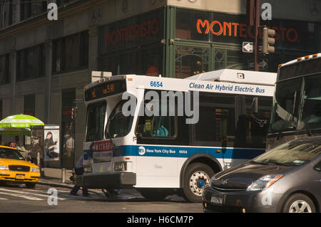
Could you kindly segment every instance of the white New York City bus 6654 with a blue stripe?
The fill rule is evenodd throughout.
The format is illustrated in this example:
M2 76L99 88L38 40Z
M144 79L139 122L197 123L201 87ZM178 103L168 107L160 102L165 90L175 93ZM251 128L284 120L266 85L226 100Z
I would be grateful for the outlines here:
M215 173L265 152L275 80L276 73L223 69L86 85L84 174L76 184L199 202Z

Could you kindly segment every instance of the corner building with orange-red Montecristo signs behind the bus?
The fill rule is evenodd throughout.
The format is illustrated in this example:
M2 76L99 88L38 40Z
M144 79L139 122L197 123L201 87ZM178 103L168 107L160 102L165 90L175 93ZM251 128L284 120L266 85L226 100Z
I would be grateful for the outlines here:
M58 4L58 20L46 6ZM260 70L321 52L321 1L272 6L275 53ZM253 70L245 0L0 1L0 119L25 113L61 128L61 159L73 167L86 130L83 86L92 70L187 78L221 68ZM290 9L289 9L290 7ZM2 138L4 141L6 138ZM74 142L70 142L74 139ZM68 149L68 152L64 152ZM70 152L72 150L72 152Z

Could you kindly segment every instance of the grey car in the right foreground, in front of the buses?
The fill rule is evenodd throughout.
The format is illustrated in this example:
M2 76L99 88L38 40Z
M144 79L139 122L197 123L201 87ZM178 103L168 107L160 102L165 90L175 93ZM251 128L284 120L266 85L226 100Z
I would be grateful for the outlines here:
M306 137L215 174L204 211L320 212L321 137Z

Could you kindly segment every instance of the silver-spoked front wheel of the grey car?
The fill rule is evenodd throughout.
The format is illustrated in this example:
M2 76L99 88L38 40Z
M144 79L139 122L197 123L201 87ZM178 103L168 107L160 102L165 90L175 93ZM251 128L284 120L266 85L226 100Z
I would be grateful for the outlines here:
M285 201L284 213L315 213L313 201L305 194L293 194Z

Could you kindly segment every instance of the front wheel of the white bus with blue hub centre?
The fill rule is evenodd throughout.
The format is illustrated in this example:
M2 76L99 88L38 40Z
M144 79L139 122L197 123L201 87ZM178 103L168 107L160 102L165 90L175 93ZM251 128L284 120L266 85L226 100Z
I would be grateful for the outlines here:
M184 176L184 198L193 203L200 203L204 188L208 186L213 175L213 169L207 164L190 164Z

